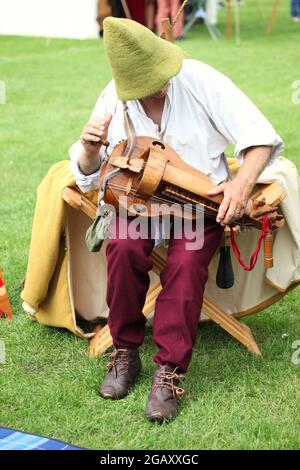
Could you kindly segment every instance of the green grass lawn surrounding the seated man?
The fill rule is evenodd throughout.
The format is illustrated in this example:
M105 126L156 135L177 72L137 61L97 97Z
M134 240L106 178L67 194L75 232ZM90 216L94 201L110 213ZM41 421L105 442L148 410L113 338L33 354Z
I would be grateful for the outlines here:
M242 43L212 41L196 25L182 41L194 58L229 75L263 110L286 142L285 156L300 167L300 25L280 2L271 36L265 34L273 0L247 0L241 8ZM144 408L155 347L148 330L144 370L120 402L97 396L103 358L87 358L87 342L32 323L21 309L38 183L68 158L100 90L110 79L102 40L0 37L0 263L14 319L0 321L7 359L0 365L0 425L95 449L296 449L300 444L299 372L291 362L300 339L299 289L248 318L262 350L252 357L215 325L203 326L181 413L169 425L147 422Z

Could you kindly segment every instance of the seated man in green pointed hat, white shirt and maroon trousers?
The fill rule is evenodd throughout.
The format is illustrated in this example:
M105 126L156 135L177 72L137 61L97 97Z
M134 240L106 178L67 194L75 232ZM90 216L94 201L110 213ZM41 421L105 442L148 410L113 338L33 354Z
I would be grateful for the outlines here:
M71 170L84 191L98 187L101 161L122 139L124 105L135 135L164 140L188 164L202 171L223 194L216 220L204 220L203 247L186 249L185 236L170 236L153 320L158 351L146 415L170 420L183 392L182 374L189 366L209 262L224 226L243 216L263 169L282 152L283 143L255 105L223 74L184 58L182 50L144 26L127 19L104 21L104 42L113 80L100 95L81 138L70 150ZM228 180L224 159L228 143L241 167ZM142 309L149 287L150 253L161 236L110 240L106 256L107 304L114 351L100 386L106 399L125 397L141 370L139 347L145 335ZM190 241L190 240L189 240Z

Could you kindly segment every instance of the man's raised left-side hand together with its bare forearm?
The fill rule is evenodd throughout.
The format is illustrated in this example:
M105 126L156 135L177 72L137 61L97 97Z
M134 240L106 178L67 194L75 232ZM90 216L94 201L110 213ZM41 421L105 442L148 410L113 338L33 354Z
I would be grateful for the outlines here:
M90 175L99 168L99 151L102 142L107 139L111 120L111 114L107 114L105 119L91 119L82 130L80 142L84 151L78 163L80 170L85 175Z

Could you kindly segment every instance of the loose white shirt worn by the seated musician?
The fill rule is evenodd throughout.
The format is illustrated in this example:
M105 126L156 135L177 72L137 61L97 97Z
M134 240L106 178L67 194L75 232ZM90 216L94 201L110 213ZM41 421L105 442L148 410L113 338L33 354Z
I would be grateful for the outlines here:
M222 73L200 61L185 59L181 71L169 82L161 128L144 112L139 101L128 101L128 112L137 136L157 137L169 144L187 163L209 176L214 184L226 180L222 159L228 143L242 164L244 150L251 146L272 146L268 164L283 150L283 142L270 122L234 83ZM123 105L112 80L101 93L92 118L113 115L109 126L108 154L126 139ZM83 192L98 188L100 170L84 175L78 167L83 151L80 141L70 148L71 171ZM100 156L103 157L101 148Z

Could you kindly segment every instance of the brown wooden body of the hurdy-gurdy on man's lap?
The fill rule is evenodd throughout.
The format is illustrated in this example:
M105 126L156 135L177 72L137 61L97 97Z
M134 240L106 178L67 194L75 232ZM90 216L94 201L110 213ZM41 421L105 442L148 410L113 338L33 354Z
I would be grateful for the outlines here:
M214 188L213 183L204 173L185 163L162 140L137 137L128 160L123 156L126 145L127 141L116 145L107 164L103 165L100 175L101 182L107 171L114 166L124 165L122 171L108 182L105 192L105 202L112 204L117 210L120 202L131 215L155 216L158 212L164 215L169 212L169 208L157 206L171 205L176 202L175 197L172 199L171 194L168 197L164 193L166 188L187 190L191 188L191 179L193 179L193 189L195 195L199 196L199 203L201 203L201 196ZM114 165L111 165L111 162L114 162ZM125 165L128 164L129 168L126 168ZM175 182L179 178L180 181L177 183L183 183L183 187L174 184L173 177L175 177ZM128 204L126 207L124 203L122 204L121 196L126 196ZM217 212L221 200L220 196L211 198L211 209L214 212ZM181 208L176 215L182 215Z

